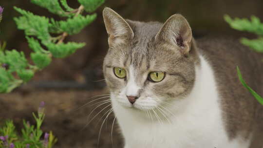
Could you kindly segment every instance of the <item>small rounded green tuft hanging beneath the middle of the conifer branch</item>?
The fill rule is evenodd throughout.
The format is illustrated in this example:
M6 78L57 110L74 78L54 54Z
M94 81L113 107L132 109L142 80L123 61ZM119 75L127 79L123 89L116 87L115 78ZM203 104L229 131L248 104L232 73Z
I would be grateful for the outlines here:
M41 70L51 63L51 57L42 53L31 53L31 58L37 67Z

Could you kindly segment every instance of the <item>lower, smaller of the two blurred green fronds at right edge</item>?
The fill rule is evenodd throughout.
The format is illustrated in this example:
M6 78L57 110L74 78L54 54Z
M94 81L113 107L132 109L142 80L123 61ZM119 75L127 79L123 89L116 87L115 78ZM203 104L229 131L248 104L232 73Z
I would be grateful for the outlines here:
M241 43L252 48L256 52L263 53L263 38L262 37L257 38L257 39L241 38Z

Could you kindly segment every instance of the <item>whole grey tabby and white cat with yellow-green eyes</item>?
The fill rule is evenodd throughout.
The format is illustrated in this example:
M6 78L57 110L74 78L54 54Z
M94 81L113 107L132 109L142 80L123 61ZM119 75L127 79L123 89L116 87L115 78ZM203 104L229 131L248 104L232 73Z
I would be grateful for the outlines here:
M103 72L124 148L263 148L263 64L234 39L195 40L180 14L160 22L104 8Z

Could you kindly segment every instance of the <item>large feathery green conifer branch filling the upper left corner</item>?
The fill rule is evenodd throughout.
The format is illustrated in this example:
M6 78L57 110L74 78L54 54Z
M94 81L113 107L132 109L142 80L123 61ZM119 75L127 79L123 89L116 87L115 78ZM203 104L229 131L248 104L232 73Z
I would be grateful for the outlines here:
M34 64L29 63L23 52L7 51L5 43L0 43L0 93L11 92L29 81L37 71L51 63L52 57L64 58L83 47L85 43L64 43L64 39L79 33L93 22L96 14L84 16L83 11L93 13L104 1L78 0L80 6L73 9L66 0L31 0L32 3L66 20L46 18L14 7L22 15L14 20L18 29L25 32L29 47L33 50L30 56Z

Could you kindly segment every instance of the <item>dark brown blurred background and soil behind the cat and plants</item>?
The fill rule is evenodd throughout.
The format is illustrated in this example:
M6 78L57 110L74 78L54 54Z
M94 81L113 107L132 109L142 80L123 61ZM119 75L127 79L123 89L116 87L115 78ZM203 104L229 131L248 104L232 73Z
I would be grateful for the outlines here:
M77 8L77 0L68 0L70 6ZM17 6L37 15L54 17L30 0L0 0L4 7L3 20L0 23L0 40L7 41L7 49L23 51L27 57L29 49L24 33L18 30L13 20L19 14L13 9ZM223 16L249 18L255 15L263 18L263 0L106 0L96 13L97 19L80 34L67 37L66 41L86 42L72 56L65 59L53 59L50 66L38 72L33 80L10 94L0 94L0 121L13 118L21 127L21 119L33 122L31 112L36 111L40 101L46 101L47 118L44 130L53 130L58 136L57 148L96 148L99 126L96 126L103 114L98 115L85 127L88 114L95 106L78 107L89 102L92 96L108 93L101 71L106 55L107 33L103 24L102 10L111 7L125 19L139 21L164 22L171 15L180 13L185 16L196 38L200 37L253 37L253 35L231 29ZM100 111L101 108L98 108ZM95 110L95 112L98 112ZM102 130L99 148L110 148L111 115L108 128ZM85 128L84 128L85 127ZM84 128L84 129L83 129ZM113 148L121 148L121 136L115 124Z

